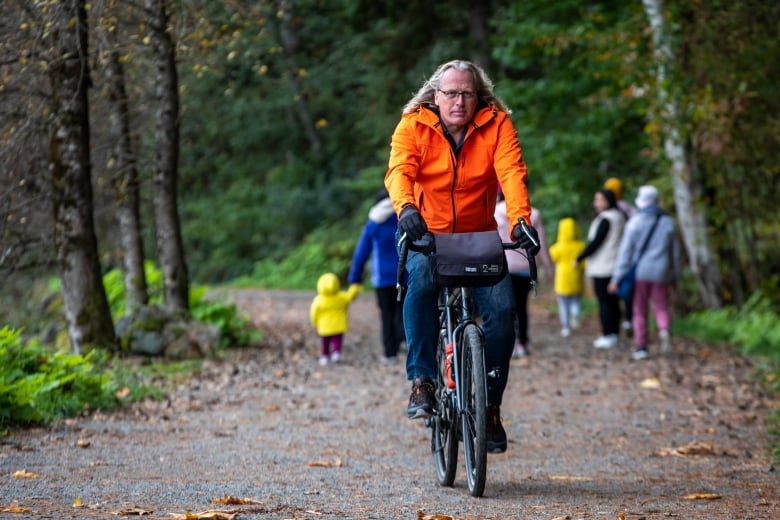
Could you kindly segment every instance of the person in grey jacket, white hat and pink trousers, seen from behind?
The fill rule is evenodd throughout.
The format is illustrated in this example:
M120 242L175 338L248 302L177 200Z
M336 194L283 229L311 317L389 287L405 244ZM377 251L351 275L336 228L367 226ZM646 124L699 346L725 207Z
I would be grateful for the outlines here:
M647 315L652 304L661 352L672 349L669 330L671 326L670 292L680 276L680 245L672 217L658 205L658 190L655 186L641 186L636 198L637 213L626 224L620 242L615 271L608 290L617 292L617 282L629 271L639 258L634 285L633 325L634 359L647 358ZM652 235L650 235L652 233ZM640 249L647 237L647 247L639 257Z

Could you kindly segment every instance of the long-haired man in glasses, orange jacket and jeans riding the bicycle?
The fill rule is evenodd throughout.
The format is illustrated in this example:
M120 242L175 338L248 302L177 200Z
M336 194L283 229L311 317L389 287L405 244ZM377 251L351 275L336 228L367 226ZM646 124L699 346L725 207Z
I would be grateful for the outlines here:
M399 234L419 240L429 231L495 230L499 182L509 222L530 223L526 177L517 131L492 82L479 66L455 60L440 65L404 107L392 137L385 186L399 216ZM536 239L536 231L529 227L529 232ZM517 225L513 237L528 254L538 252ZM411 251L406 268L406 375L412 381L407 415L417 419L434 409L439 287L432 257ZM500 406L514 346L509 276L494 286L474 288L472 296L482 317L490 374L487 449L501 453L507 439Z

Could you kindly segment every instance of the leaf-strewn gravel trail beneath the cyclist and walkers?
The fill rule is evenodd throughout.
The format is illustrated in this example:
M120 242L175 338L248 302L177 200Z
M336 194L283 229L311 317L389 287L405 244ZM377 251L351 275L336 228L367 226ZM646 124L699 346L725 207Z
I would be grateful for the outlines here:
M453 488L436 484L429 430L405 418L404 368L378 362L372 293L350 309L343 362L325 367L313 293L232 295L265 348L207 362L162 402L2 439L0 510L28 512L0 518L780 518L772 403L726 349L676 341L670 357L651 345L631 361L627 342L593 349L594 319L561 338L540 295L502 407L509 449L489 456L475 499L462 462ZM226 496L256 503L212 503Z

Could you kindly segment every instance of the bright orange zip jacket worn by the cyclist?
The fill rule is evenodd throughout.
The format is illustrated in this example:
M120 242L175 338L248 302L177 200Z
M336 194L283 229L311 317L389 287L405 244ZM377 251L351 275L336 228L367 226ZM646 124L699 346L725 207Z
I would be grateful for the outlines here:
M477 108L456 162L439 115L423 106L396 126L385 186L398 215L411 204L431 232L465 233L496 229L499 182L509 222L522 217L530 223L526 177L517 131L505 112Z

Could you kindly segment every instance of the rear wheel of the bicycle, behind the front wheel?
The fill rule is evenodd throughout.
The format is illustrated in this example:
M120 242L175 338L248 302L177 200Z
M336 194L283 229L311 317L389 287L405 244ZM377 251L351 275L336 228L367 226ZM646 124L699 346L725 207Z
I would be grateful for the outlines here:
M445 375L446 339L439 338L436 357L439 376L436 385L436 415L432 417L431 452L436 463L436 477L441 486L451 487L458 466L458 428L460 427L453 393L447 389Z

